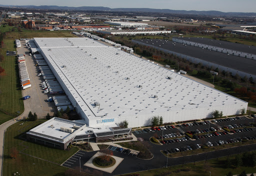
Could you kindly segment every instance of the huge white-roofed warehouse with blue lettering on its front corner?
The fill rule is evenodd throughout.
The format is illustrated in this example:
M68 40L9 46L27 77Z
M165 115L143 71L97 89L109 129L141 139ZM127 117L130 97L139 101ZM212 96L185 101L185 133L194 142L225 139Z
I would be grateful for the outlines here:
M90 38L34 38L87 126L150 125L237 114L247 102Z

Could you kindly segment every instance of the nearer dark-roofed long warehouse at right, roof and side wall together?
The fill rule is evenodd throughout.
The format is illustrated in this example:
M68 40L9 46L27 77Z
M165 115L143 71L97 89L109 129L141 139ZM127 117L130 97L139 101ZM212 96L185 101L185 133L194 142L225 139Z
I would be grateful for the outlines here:
M173 40L176 41L176 38ZM175 54L193 63L201 63L206 66L212 66L213 68L217 67L220 70L231 72L232 75L239 74L241 77L247 76L253 79L256 78L256 60L254 59L236 56L232 53L216 52L215 50L209 49L210 46L193 46L193 44L190 45L188 41L188 44L186 44L185 41L182 43L181 40L181 42L175 42L163 39L137 39L132 41Z

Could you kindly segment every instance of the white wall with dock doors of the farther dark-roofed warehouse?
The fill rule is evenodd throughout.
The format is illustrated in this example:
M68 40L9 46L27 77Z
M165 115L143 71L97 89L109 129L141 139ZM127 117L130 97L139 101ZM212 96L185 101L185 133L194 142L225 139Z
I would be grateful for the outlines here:
M212 46L210 44L202 44L202 43L197 43L197 42L193 42L193 41L187 41L182 38L172 38L172 41L191 45L191 46L196 46L196 47L200 47L200 48L204 48L204 49L214 50L217 52L223 52L223 53L230 54L230 55L236 55L236 56L240 56L240 57L256 59L256 54L241 52L241 51L232 50L232 49L226 49L223 47Z

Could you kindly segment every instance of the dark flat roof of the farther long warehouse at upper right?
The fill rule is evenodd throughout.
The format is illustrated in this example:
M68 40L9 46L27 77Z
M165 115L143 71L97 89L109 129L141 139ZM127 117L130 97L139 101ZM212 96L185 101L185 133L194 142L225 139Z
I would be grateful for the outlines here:
M177 38L177 37L174 37ZM208 44L216 47L222 47L232 50L237 50L241 52L247 52L251 54L256 54L256 46L250 46L246 44L234 43L229 41L222 41L218 39L211 39L211 38L203 38L203 37L178 37L179 39L198 42L202 44Z

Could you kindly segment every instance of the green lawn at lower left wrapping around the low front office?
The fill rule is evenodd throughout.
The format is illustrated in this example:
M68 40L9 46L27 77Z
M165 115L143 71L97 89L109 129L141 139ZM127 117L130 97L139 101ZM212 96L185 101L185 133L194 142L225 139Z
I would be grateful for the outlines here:
M78 148L73 147L70 150L61 150L25 140L25 132L44 121L44 119L25 121L23 125L20 125L22 122L17 122L7 128L4 142L3 175L12 175L16 171L21 175L56 175L66 170L65 167L58 164L69 158ZM19 153L17 158L10 158L9 152L13 146L25 154ZM28 156L27 154L34 157Z

